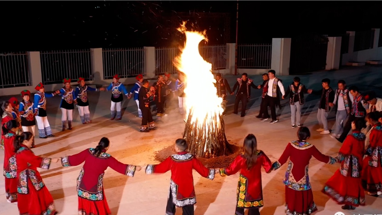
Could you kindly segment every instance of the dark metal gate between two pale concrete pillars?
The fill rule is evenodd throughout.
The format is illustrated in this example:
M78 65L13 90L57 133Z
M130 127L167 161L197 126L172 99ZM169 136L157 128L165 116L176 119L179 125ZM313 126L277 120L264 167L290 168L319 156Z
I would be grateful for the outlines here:
M313 33L292 37L289 73L324 70L328 41L327 35Z

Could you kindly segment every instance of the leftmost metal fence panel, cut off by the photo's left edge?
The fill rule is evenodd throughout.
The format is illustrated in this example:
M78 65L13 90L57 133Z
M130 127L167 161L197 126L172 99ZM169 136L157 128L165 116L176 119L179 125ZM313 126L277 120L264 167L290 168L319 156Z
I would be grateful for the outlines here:
M0 54L0 88L30 86L28 53Z

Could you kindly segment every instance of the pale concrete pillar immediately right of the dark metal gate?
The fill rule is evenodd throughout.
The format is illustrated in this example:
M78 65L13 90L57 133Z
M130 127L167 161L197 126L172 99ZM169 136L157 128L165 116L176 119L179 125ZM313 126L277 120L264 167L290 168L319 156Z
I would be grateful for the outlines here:
M342 37L328 37L328 39L325 70L338 70L340 68Z

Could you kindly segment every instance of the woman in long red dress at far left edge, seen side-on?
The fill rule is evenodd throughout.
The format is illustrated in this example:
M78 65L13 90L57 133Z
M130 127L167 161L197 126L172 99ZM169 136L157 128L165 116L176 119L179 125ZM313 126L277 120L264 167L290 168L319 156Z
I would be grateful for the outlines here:
M16 120L10 120L2 127L4 135L5 197L9 203L17 204L17 166L13 143L18 130Z

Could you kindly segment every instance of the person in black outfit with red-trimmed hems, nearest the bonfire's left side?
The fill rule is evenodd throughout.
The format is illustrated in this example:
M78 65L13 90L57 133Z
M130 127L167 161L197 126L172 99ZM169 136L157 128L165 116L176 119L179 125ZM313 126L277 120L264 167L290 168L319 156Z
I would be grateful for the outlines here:
M148 80L143 80L142 88L138 93L139 109L142 111L141 132L149 132L149 129L154 129L155 127L150 109L150 97L155 94L155 88L153 86L149 88L149 85L150 83ZM147 127L147 124L149 127Z

